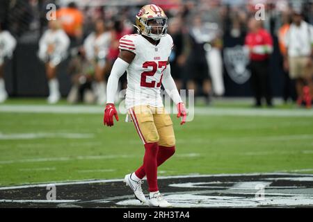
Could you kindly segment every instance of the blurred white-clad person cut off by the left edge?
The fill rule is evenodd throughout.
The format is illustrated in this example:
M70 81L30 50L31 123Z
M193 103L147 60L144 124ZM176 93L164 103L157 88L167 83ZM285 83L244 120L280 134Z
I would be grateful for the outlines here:
M11 58L13 56L15 46L15 38L8 31L2 30L0 22L0 103L3 103L8 98L6 85L3 79L4 65L6 58Z

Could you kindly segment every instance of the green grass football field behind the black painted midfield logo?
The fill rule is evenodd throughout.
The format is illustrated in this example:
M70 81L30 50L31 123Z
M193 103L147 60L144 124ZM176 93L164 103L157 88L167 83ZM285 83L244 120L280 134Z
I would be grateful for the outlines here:
M103 126L101 110L44 99L1 104L0 186L123 178L134 171L144 148L133 123L120 114L113 128ZM313 110L254 110L230 101L198 110L184 126L172 115L177 152L160 176L313 173Z

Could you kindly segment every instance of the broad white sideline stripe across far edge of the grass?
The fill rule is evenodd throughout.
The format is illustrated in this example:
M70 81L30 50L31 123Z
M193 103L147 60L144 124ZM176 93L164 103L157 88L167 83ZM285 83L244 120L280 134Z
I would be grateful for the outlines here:
M167 108L170 110L170 108ZM0 112L102 114L95 105L0 105ZM213 116L313 117L313 109L195 108L195 114Z

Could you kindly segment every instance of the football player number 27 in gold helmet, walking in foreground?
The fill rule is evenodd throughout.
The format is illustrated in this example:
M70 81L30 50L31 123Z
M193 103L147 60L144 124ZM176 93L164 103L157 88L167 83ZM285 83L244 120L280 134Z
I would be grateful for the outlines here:
M136 15L138 34L120 39L120 55L113 65L107 85L107 103L104 125L113 126L113 116L118 121L114 98L118 80L127 71L125 105L145 146L143 165L125 176L125 182L134 191L135 198L153 207L170 207L157 184L157 167L175 153L175 135L170 115L161 99L161 84L177 104L177 117L186 121L186 108L172 76L168 62L172 50L172 37L167 34L167 17L156 5L143 6ZM150 195L147 201L141 189L147 177Z

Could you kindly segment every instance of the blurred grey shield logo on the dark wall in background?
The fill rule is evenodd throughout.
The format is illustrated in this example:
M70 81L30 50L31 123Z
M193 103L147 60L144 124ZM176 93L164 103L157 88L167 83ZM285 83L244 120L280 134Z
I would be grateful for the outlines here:
M247 69L249 58L243 51L243 46L237 45L224 49L224 62L228 75L237 84L244 84L250 78Z

